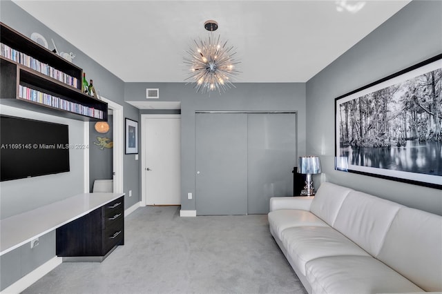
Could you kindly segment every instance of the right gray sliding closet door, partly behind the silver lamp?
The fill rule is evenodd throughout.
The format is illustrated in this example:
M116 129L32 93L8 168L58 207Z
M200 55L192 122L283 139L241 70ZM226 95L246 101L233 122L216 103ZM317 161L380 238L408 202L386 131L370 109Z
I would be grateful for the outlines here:
M293 194L296 114L247 115L248 213L269 213L270 197Z

